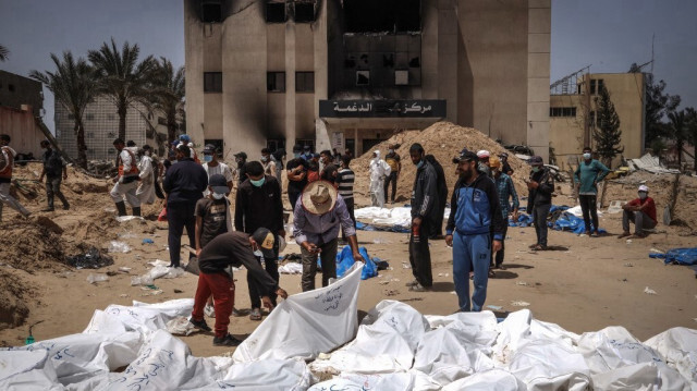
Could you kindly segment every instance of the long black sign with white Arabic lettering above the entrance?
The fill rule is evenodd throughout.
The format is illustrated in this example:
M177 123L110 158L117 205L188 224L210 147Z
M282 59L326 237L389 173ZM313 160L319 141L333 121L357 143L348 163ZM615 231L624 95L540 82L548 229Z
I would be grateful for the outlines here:
M320 100L322 118L444 118L445 100Z

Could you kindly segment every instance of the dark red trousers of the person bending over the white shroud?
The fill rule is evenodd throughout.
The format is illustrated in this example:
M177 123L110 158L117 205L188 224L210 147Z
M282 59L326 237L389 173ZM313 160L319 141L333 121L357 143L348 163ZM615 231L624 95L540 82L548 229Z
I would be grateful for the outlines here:
M194 320L204 319L204 307L211 294L216 309L216 337L223 338L228 335L230 315L232 315L232 308L235 305L235 283L230 274L224 272L210 274L201 272L198 274L198 286L194 297L194 310L192 310Z

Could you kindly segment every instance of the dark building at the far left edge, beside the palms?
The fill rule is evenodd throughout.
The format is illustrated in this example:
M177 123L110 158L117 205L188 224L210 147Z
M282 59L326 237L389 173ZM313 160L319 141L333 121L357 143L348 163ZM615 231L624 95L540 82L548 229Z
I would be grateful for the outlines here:
M14 73L0 71L0 133L12 137L12 148L25 159L38 158L44 133L36 118L44 111L41 83Z

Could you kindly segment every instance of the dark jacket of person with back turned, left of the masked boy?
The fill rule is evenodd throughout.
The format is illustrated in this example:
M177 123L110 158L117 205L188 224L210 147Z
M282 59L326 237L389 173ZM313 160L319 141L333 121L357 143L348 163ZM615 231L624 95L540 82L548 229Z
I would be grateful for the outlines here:
M208 174L192 158L172 164L162 181L167 204L196 204L208 187Z

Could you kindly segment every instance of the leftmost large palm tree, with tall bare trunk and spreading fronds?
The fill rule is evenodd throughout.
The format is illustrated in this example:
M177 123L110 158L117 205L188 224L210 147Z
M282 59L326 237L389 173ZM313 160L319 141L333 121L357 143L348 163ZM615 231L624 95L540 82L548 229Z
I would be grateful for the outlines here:
M96 95L97 86L93 81L94 69L85 59L73 58L70 51L63 52L62 61L51 53L51 60L56 64L56 72L32 71L29 77L44 83L53 93L56 101L61 102L73 114L75 119L73 131L77 139L77 164L87 168L83 114Z

